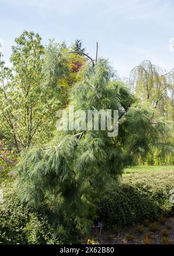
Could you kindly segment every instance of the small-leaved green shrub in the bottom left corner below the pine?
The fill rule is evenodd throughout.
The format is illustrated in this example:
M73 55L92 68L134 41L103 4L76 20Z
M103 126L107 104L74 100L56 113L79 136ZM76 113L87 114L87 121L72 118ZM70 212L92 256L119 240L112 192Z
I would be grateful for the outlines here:
M20 204L13 182L1 185L3 202L0 204L1 244L59 244L71 240L69 233L55 229L49 220L32 208Z

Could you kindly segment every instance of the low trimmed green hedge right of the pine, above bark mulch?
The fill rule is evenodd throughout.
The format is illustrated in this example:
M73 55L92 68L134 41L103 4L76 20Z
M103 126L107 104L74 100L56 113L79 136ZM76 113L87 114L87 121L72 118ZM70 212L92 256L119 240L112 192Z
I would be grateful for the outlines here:
M124 176L119 187L100 201L100 219L107 226L124 226L171 215L174 206L169 202L171 189L174 189L172 171Z

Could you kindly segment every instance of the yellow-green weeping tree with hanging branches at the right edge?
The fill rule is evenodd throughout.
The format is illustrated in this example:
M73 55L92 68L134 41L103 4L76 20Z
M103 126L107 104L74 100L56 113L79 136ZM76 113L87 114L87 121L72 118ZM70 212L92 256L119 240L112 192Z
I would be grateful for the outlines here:
M173 70L166 72L161 67L153 65L150 61L143 61L136 66L130 74L129 86L132 87L135 97L142 102L147 102L154 108L154 119L158 120L159 127L168 127L168 133L163 134L161 129L161 143L157 144L159 149L153 149L150 158L166 158L173 155L173 121L174 121L174 84ZM155 162L151 159L151 163Z

